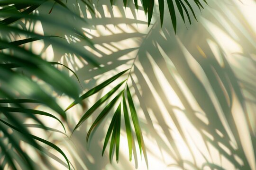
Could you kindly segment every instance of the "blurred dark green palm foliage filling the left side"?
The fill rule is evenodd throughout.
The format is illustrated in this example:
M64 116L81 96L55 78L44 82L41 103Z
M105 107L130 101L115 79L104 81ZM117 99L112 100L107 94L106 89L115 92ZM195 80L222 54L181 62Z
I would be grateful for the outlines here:
M37 14L36 10L42 4L46 4L46 6L51 8L55 3L59 5L55 6L55 10L59 10L59 12L65 13L70 17L78 18L80 22L84 22L60 0L54 0L49 3L46 0L0 1L0 112L2 113L0 116L0 131L3 133L3 136L0 137L0 148L4 153L1 156L3 156L4 162L6 162L5 164L1 163L2 169L7 166L14 170L18 168L37 169L33 159L20 146L20 141L32 145L47 166L49 162L44 158L46 151L37 141L54 148L64 156L70 169L67 157L58 146L32 135L29 129L23 124L24 118L30 118L35 120L41 128L48 130L49 128L36 116L44 115L59 121L65 131L63 120L66 120L66 114L55 101L56 94L54 96L52 93L65 94L72 98L77 98L79 93L76 83L54 66L62 65L71 72L73 70L58 62L47 62L40 55L28 48L27 44L44 40L50 44L60 45L69 52L81 55L81 57L91 64L97 65L91 56L88 56L83 51L78 51L74 46L65 42L64 38L37 34L35 30L26 26L27 21L31 23L33 21L46 22L52 26L73 32L73 34L88 42L88 39L82 32L79 29L75 29L74 26L70 26L69 23L58 23L44 14ZM77 77L74 72L73 74ZM29 103L46 105L59 114L61 118L57 118L52 113L30 109ZM18 133L10 133L10 128L16 130ZM6 140L8 141L7 143L5 142Z

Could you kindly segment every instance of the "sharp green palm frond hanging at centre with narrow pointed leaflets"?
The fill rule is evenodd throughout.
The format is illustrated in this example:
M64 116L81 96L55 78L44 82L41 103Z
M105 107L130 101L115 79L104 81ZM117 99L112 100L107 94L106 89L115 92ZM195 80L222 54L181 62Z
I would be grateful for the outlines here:
M100 85L97 85L96 87L92 88L91 90L89 90L87 93L83 94L78 100L75 100L66 110L72 108L74 105L76 105L77 103L80 103L82 100L88 98L89 96L91 96L94 93L97 93L98 91L100 91L101 89L103 89L105 86L109 85L110 83L112 83L113 81L115 81L117 78L119 78L121 75L123 75L125 72L127 72L128 70L122 71L119 74L112 76L111 78L109 78L108 80L104 81L103 83L101 83ZM103 119L110 114L110 110L112 110L116 104L118 104L118 107L112 117L110 126L108 128L106 137L105 137L105 141L104 141L104 145L103 145L103 149L102 149L102 155L105 152L105 149L109 143L110 140L110 162L112 161L112 153L114 151L114 146L116 146L116 161L119 160L119 144L120 144L120 126L121 126L121 115L123 114L124 116L124 120L125 120L125 126L126 126L126 132L127 132L127 139L128 139L128 148L129 148L129 159L131 161L132 158L132 141L133 141L133 136L132 136L132 130L131 130L131 126L130 126L130 119L129 119L129 112L132 118L132 122L134 125L134 129L135 129L135 133L137 136L137 141L138 141L138 146L139 146L139 150L141 153L142 150L142 136L141 136L141 130L140 130L140 126L139 126L139 121L138 121L138 117L137 117L137 112L135 110L135 106L133 103L133 99L129 90L128 85L126 84L126 86L124 86L123 90L119 90L120 87L127 81L124 80L121 83L119 83L118 85L116 85L114 88L112 88L107 94L105 94L103 97L101 97L101 99L99 99L95 104L93 104L91 106L90 109L88 109L85 114L82 116L82 118L79 120L79 122L77 123L77 125L75 126L75 128L73 129L73 132L81 126L82 122L84 122L86 119L88 119L91 114L100 108L100 106L105 103L110 97L115 96L107 105L106 107L101 111L101 113L98 115L98 117L94 120L94 122L92 123L88 133L87 133L87 137L86 137L86 141L88 143L88 140L91 136L91 133L96 129L97 126L99 126L99 124L101 123L101 121L103 121ZM120 91L117 95L115 94L117 91ZM125 95L125 92L127 95ZM121 98L121 99L120 99ZM128 107L126 104L126 100L128 100L128 105L129 105L129 111L128 111ZM111 138L111 139L110 139Z

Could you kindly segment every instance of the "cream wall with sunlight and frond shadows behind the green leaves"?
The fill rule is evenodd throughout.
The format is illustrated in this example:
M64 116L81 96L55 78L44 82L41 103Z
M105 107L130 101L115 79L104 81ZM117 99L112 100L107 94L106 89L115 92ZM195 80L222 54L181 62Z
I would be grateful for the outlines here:
M113 111L101 123L87 149L85 137L100 111L97 110L71 140L58 132L45 135L65 151L75 170L176 170L181 169L177 162L181 160L184 161L184 169L188 170L195 167L210 170L204 166L207 162L225 170L235 170L234 162L238 165L247 163L247 168L256 170L255 142L250 138L256 137L256 2L208 1L209 7L201 11L202 15L199 10L196 11L198 22L192 19L192 25L185 26L181 17L178 18L175 35L166 10L167 4L165 22L160 28L157 15L153 16L153 24L147 27L142 8L135 10L132 2L131 8L124 8L120 0L111 8L109 1L100 0L95 2L96 17L93 17L82 3L77 5L69 0L69 7L80 11L78 14L86 18L88 24L80 27L95 44L94 50L89 44L79 42L61 30L37 23L37 31L65 36L67 41L71 44L75 41L73 45L88 50L88 54L95 55L101 63L101 68L95 68L73 54L43 42L33 42L34 50L45 52L46 59L60 61L76 70L83 86L81 93L130 68L136 59L128 84L134 94L146 157L139 155L135 142L134 156L129 162L123 124L119 163L113 161L110 164L108 149L101 157ZM38 12L44 10L47 8L39 8ZM56 13L53 10L50 15L69 22L64 16L55 16ZM72 73L69 74L72 76ZM122 76L117 82L126 77ZM86 100L84 108L76 106L67 112L67 126L71 131L84 110L114 85ZM72 102L64 96L58 100L63 108ZM45 110L42 106L38 109ZM63 131L57 122L45 121L49 127ZM56 154L53 158L57 160L52 159L53 169L66 169L62 165L64 159L57 153L53 154Z

